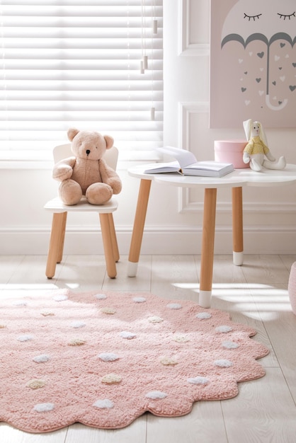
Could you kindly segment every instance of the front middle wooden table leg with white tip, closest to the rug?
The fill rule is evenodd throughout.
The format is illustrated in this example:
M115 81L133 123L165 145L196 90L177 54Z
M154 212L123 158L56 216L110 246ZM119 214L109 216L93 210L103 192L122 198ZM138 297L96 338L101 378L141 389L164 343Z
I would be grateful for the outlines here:
M210 308L212 298L212 268L214 263L217 188L205 189L203 209L203 241L200 264L199 304Z

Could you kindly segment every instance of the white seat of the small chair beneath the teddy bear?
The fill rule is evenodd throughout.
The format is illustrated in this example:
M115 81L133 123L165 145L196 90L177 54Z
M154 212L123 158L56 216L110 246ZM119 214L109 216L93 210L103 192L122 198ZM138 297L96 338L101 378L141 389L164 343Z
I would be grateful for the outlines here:
M82 197L76 205L64 205L59 197L55 197L44 206L44 209L50 212L98 212L99 214L108 214L116 211L118 202L115 198L111 198L104 205L91 205L86 201L86 197Z

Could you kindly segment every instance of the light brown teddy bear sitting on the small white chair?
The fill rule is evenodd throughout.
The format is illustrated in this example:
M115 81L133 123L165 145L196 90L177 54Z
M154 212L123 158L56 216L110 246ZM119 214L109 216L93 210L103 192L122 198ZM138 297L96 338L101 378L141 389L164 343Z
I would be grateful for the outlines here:
M71 128L67 132L74 156L55 164L52 177L59 180L59 197L76 205L83 195L91 205L103 205L121 191L118 174L103 159L113 146L113 137Z

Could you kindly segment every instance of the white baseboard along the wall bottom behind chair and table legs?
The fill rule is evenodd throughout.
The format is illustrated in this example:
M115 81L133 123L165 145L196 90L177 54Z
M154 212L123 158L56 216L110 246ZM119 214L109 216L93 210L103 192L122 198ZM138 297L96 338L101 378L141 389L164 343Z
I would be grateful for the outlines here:
M121 255L130 249L132 229L117 227ZM50 231L47 229L1 229L1 255L46 255ZM202 229L171 226L148 226L144 231L141 253L200 254ZM296 226L245 226L244 252L249 254L295 254ZM101 234L93 228L69 228L64 243L65 254L103 254ZM217 226L215 253L232 254L231 226Z

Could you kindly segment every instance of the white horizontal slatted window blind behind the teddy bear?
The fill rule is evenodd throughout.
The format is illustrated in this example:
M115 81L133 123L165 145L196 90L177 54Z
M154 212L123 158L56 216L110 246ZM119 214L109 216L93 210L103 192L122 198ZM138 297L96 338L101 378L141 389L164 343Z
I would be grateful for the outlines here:
M0 21L0 149L52 149L69 127L161 145L162 0L0 0Z

